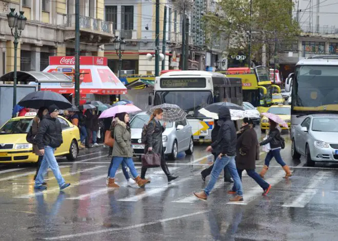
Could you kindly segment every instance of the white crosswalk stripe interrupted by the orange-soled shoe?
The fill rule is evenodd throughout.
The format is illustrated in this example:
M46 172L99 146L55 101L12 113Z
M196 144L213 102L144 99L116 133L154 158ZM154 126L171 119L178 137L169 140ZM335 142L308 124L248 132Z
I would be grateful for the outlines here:
M265 181L269 183L271 186L281 182L283 179L282 177L285 176L284 170L280 170L277 172L273 177L266 179ZM235 205L247 205L254 199L256 199L258 196L262 195L263 190L260 187L260 185L256 185L253 188L250 188L248 192L244 191L243 193L243 202L228 202L226 204L235 204Z

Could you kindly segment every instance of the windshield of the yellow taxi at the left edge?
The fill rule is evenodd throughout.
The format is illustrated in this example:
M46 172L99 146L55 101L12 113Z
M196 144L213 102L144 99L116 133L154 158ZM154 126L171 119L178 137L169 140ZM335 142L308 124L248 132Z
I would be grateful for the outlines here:
M0 135L26 134L32 122L33 119L11 119L0 129Z

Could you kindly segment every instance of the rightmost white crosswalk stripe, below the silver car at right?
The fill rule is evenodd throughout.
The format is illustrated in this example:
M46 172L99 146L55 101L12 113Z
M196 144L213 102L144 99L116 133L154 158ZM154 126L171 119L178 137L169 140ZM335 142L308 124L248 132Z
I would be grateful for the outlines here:
M304 208L317 193L321 185L323 185L329 177L333 176L333 172L319 171L311 178L311 184L303 190L303 192L293 201L286 202L282 207Z

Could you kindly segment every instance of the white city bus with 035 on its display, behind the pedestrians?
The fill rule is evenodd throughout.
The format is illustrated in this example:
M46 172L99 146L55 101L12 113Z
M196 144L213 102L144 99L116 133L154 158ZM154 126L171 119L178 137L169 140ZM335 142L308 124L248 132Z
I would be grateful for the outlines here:
M213 128L213 119L198 110L221 101L242 105L240 78L206 71L171 71L155 79L153 104L176 104L184 109L194 141L210 141Z

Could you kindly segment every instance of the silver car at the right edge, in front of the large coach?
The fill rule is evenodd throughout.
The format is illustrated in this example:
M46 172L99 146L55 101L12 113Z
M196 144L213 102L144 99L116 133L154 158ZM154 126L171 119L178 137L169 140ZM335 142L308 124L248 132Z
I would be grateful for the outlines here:
M313 114L295 127L292 158L305 156L308 166L315 162L338 162L338 115Z

